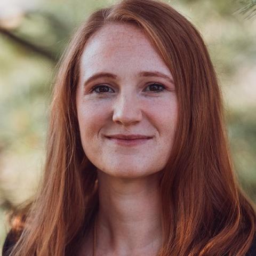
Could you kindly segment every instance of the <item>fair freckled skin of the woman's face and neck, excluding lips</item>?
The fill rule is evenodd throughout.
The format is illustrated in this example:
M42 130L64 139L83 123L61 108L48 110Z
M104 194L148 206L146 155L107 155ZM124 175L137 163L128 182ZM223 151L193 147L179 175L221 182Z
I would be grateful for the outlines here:
M140 76L146 71L169 79ZM157 255L162 246L159 174L171 153L178 113L172 74L139 28L120 23L103 26L89 39L80 72L81 140L98 168L97 256ZM116 77L86 83L99 72ZM93 91L95 85L103 88ZM152 138L135 146L106 138L117 133ZM92 255L92 245L91 232L79 255Z

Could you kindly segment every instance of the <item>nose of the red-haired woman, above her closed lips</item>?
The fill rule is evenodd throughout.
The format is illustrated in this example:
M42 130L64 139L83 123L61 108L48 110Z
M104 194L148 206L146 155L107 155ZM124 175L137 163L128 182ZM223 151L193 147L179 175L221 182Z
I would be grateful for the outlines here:
M127 93L119 95L114 103L113 122L130 125L142 119L141 102L137 95Z

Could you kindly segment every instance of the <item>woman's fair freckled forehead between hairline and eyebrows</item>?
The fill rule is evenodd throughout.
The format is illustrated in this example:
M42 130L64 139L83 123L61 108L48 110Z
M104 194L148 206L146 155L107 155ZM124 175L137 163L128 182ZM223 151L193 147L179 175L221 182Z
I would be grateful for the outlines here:
M103 26L87 41L80 64L82 76L98 71L134 73L138 69L170 74L148 37L131 24Z

